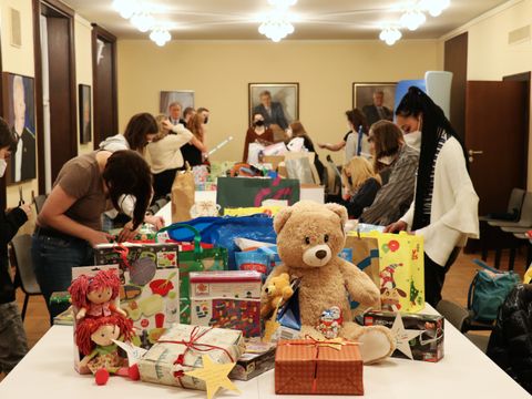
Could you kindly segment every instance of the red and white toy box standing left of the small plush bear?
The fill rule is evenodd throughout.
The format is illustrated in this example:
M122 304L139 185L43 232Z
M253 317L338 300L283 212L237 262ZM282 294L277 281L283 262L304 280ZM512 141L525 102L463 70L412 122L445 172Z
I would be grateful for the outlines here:
M191 273L191 321L260 336L260 273Z

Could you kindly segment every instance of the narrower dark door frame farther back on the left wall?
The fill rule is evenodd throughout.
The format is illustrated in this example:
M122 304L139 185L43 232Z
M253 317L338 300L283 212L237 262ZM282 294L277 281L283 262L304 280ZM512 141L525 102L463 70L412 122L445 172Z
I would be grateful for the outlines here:
M99 149L102 141L103 133L100 132L100 114L98 112L98 39L102 38L106 43L110 43L112 49L112 81L111 81L111 96L113 106L113 134L119 133L119 99L117 99L117 70L116 70L116 37L103 29L96 23L92 23L92 101L93 101L93 146Z

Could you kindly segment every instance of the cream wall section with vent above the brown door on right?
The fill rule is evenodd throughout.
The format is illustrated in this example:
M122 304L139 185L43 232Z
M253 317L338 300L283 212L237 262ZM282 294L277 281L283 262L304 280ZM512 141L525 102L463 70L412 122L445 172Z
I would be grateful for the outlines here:
M509 1L453 32L468 32L468 80L501 80L505 75L531 71L531 39L516 44L508 43L510 31L531 24L532 0ZM532 133L528 176L528 187L532 190Z

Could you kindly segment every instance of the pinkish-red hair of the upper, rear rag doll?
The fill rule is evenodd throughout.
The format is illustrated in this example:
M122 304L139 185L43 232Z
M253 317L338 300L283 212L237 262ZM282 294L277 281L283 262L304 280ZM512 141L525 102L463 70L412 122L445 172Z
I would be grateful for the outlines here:
M116 299L120 289L120 278L114 269L100 270L93 277L81 275L72 282L69 288L72 305L78 309L86 308L90 306L86 298L89 293L108 287L112 289L111 300Z

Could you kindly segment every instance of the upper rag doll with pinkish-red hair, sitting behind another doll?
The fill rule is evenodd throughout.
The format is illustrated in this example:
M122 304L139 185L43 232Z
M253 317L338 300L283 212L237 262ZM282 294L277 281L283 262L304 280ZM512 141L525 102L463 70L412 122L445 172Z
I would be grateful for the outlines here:
M93 277L81 275L69 288L72 305L78 308L76 320L85 316L111 316L113 313L126 316L115 305L120 290L120 278L115 270L100 270Z

